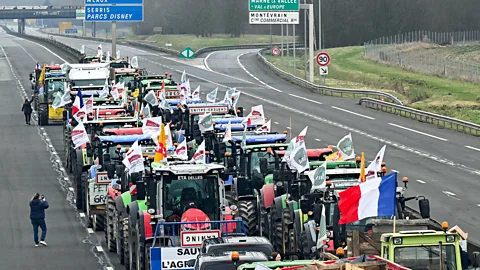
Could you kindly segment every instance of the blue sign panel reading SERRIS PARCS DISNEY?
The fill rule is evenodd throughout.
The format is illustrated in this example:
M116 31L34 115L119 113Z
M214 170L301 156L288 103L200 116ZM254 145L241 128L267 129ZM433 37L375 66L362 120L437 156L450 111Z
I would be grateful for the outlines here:
M143 6L86 6L87 22L143 22Z

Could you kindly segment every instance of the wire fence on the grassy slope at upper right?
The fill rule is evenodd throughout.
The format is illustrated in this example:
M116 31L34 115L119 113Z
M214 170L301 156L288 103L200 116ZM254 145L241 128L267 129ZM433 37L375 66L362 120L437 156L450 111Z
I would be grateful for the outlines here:
M461 50L473 44L480 44L480 31L414 31L365 42L364 56L415 72L480 82L479 63L448 59L447 53L440 52L444 46Z

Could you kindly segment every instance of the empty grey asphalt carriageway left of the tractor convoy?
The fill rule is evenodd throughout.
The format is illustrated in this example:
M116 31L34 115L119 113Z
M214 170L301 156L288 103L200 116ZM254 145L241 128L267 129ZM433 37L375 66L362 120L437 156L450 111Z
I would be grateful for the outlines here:
M1 268L113 269L101 247L103 234L89 232L74 207L61 162L62 127L41 128L33 120L27 126L20 111L25 94L31 94L28 74L37 61L60 60L35 43L0 33ZM28 202L35 192L50 204L48 247L34 247Z

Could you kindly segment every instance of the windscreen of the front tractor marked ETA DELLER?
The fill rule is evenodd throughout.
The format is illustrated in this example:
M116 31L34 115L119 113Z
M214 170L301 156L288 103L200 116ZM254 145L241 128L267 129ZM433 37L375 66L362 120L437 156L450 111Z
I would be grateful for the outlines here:
M202 210L212 221L220 220L218 179L215 175L164 176L163 185L167 221L175 216L181 217L190 208Z

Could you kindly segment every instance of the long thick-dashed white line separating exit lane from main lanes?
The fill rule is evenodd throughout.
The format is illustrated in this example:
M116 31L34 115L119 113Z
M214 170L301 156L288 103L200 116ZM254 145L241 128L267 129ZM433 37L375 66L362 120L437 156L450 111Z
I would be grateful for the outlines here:
M171 69L171 70L174 70L178 73L182 73L183 70L179 70L179 69L176 69L176 68L173 68L173 67L169 67L167 65L164 65L162 63L159 63L159 62L155 62L155 61L149 61L150 63L152 64L156 64L158 66L161 66L161 67L165 67L165 68L168 68L168 69ZM229 86L225 85L225 84L221 84L221 83L217 83L217 82L214 82L212 80L209 80L209 79L206 79L206 78L203 78L201 76L197 76L195 74L189 74L190 77L192 78L196 78L196 79L199 79L199 80L202 80L204 82L208 82L208 83L211 83L211 84L214 84L214 85L217 85L217 86L220 86L220 87L225 87L225 88L228 88ZM245 96L249 96L251 98L255 98L257 100L260 100L260 101L263 101L265 103L268 103L268 104L271 104L271 105L274 105L274 106L277 106L277 107L280 107L280 108L283 108L283 109L286 109L288 111L291 111L293 113L296 113L296 114L299 114L299 115L302 115L302 116L306 116L306 117L309 117L313 120L316 120L316 121L319 121L319 122L323 122L323 123L326 123L328 125L331 125L331 126L334 126L334 127L337 127L337 128L341 128L343 130L347 130L347 131L350 131L350 132L353 132L353 133L357 133L357 134L360 134L362 136L365 136L371 140L374 140L374 141L378 141L378 142L381 142L381 143L385 143L385 144L388 144L388 145L391 145L395 148L398 148L398 149L401 149L401 150L404 150L406 152L409 152L409 153L412 153L412 154L415 154L415 155L418 155L418 156L421 156L421 157L425 157L425 158L428 158L428 159L431 159L431 160L434 160L438 163L441 163L441 164L446 164L446 165L449 165L449 166L452 166L452 167L456 167L460 170L463 170L463 171L466 171L466 172L469 172L469 173L472 173L472 174L475 174L475 175L480 175L480 170L477 170L477 169L474 169L474 168L470 168L470 167L467 167L463 164L460 164L460 163L455 163L451 160L448 160L448 159L445 159L445 158L440 158L440 157L436 157L428 152L424 152L424 151L420 151L418 149L415 149L415 148L412 148L412 147L408 147L404 144L401 144L401 143L398 143L398 142L395 142L395 141L391 141L391 140L387 140L385 138L381 138L379 136L375 136L375 135L372 135L372 134L369 134L363 130L359 130L359 129L355 129L355 128L352 128L352 127L349 127L349 126L346 126L346 125L343 125L343 124L340 124L340 123L337 123L337 122L333 122L331 120L328 120L328 119L325 119L325 118L322 118L322 117L319 117L319 116L315 116L315 115L312 115L312 114L308 114L306 112L303 112L303 111L300 111L298 109L295 109L295 108L292 108L292 107L289 107L289 106L286 106L285 104L281 104L281 103L278 103L278 102L274 102L270 99L266 99L266 98L262 98L262 97L259 97L259 96L256 96L256 95L252 95L251 93L247 93L247 92L243 92L242 93L243 95Z

